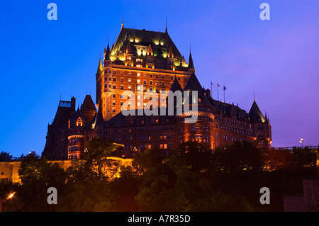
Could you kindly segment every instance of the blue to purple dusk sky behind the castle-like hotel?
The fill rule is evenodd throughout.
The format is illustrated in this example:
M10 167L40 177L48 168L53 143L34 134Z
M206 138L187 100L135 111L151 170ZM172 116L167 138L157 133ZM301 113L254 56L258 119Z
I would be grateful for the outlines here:
M47 4L57 4L57 21ZM259 18L260 4L270 20ZM125 28L165 30L205 88L267 112L272 146L319 145L319 1L0 0L0 152L41 154L62 100L96 97L100 52ZM219 96L223 99L222 89Z

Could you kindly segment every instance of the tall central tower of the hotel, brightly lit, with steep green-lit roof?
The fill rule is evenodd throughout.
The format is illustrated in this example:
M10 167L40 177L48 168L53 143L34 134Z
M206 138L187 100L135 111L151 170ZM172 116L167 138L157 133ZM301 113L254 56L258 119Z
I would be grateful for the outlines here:
M123 91L168 92L175 78L184 89L194 71L191 53L187 64L167 29L164 33L138 30L124 28L122 23L116 43L104 49L103 64L99 61L96 106L109 120L128 101L121 96ZM135 108L142 108L138 102Z

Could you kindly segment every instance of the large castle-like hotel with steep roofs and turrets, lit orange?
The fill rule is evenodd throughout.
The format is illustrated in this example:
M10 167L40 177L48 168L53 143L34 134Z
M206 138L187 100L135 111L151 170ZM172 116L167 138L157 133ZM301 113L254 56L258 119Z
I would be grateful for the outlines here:
M126 153L158 148L175 149L182 142L206 143L211 149L247 140L257 147L269 148L272 127L254 101L250 112L211 97L199 83L189 53L186 62L167 29L164 33L124 28L116 43L104 50L96 72L96 103L86 95L76 108L76 99L60 101L55 119L47 128L43 155L49 160L82 159L92 137L111 138ZM121 112L130 100L123 91L154 92L197 91L196 123L186 123L189 115L128 115ZM159 96L159 95L158 95ZM139 98L137 96L137 98ZM136 101L130 108L143 108L147 101ZM166 100L159 101L159 108Z

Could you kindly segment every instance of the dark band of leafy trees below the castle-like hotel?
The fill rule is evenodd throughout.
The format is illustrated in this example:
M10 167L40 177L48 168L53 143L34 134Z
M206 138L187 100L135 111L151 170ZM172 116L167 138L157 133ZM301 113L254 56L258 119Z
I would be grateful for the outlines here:
M35 152L21 156L21 185L6 210L16 211L282 211L282 196L301 193L302 180L318 178L317 150L260 150L250 142L209 149L184 142L169 156L159 149L135 154L132 165L108 159L117 146L96 138L68 169ZM7 155L7 154L6 154ZM47 204L47 188L58 204ZM259 189L272 191L271 205ZM9 205L10 204L10 205Z

